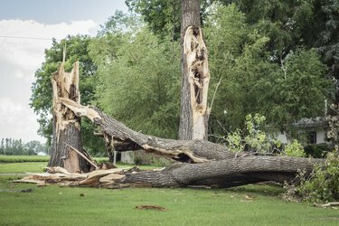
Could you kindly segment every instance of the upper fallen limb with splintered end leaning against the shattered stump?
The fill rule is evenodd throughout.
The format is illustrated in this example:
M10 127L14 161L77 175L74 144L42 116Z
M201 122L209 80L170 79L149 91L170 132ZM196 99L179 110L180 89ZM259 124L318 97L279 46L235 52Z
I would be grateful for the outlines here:
M138 146L139 149L144 149L147 152L164 155L177 161L192 163L229 159L235 156L226 146L208 141L164 139L138 133L116 119L108 117L98 108L85 107L70 99L60 99L60 101L76 115L89 118L113 139L132 144L133 149Z

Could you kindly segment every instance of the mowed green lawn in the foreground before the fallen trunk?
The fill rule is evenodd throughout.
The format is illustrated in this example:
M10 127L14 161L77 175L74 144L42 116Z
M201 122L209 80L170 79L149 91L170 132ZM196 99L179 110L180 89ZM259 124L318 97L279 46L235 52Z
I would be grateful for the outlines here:
M310 203L283 202L277 186L237 189L59 187L14 184L0 176L1 225L338 225L339 211ZM80 194L84 196L80 196ZM253 196L249 202L245 196ZM245 201L245 202L244 202ZM138 210L159 205L165 212Z

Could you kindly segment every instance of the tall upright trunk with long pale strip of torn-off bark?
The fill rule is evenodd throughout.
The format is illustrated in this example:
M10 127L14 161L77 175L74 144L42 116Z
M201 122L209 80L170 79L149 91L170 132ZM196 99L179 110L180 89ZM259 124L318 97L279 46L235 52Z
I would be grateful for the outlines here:
M207 138L210 72L200 25L200 1L182 0L181 140Z

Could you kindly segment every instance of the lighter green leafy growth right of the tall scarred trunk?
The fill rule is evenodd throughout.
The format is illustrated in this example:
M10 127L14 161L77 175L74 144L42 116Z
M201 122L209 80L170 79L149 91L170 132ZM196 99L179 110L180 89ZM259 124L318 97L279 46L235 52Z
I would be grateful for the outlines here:
M212 75L221 77L212 133L241 127L248 114L260 113L268 124L287 132L300 118L323 114L331 83L315 50L299 48L284 61L272 61L269 37L248 24L236 5L215 6L205 30ZM212 80L212 87L218 80ZM226 131L219 125L226 125Z

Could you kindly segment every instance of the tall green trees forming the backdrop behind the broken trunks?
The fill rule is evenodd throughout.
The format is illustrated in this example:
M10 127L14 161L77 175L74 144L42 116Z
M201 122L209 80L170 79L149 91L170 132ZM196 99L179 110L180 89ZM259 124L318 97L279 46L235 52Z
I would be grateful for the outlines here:
M45 62L35 72L31 107L40 118L39 133L48 140L51 76L64 45L66 69L80 61L82 104L95 105L137 131L177 138L180 1L126 2L130 14L116 12L96 37L68 36L45 51ZM203 0L209 99L214 98L209 139L237 129L246 133L249 114L265 116L265 128L290 138L301 118L324 116L325 99L339 99L338 12L337 0ZM81 129L86 150L95 154L105 149L88 121Z

